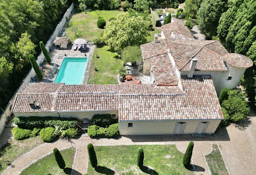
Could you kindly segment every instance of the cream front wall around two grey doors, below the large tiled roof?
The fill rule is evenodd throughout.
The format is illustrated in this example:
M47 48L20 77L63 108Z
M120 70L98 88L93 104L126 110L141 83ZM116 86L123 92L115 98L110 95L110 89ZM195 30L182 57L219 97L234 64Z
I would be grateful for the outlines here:
M174 134L176 122L187 122L183 134L193 134L199 122L210 122L207 134L213 134L221 120L151 120L151 121L119 121L119 132L122 136ZM133 127L128 127L133 123Z

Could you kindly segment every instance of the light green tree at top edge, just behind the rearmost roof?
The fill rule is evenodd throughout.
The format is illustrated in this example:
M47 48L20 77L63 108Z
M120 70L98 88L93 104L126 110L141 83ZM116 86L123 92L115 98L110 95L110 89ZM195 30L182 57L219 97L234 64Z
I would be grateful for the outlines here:
M202 2L203 0L185 0L185 13L195 18Z

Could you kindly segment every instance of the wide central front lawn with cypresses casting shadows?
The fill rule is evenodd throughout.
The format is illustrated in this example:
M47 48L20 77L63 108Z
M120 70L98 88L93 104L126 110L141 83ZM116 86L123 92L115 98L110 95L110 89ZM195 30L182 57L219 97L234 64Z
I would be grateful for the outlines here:
M137 166L139 148L144 149L144 167ZM88 174L193 174L182 164L183 153L175 145L121 145L94 147L96 172L89 163Z

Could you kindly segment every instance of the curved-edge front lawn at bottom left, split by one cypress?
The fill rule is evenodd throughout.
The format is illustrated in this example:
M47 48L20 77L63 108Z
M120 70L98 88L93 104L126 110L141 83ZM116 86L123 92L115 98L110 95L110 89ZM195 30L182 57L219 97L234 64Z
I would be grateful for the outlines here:
M66 167L69 172L72 168L75 151L72 148L64 149L60 151L63 159L65 160ZM53 153L40 159L34 164L28 166L21 174L65 174L61 168L57 165L57 162L54 159Z

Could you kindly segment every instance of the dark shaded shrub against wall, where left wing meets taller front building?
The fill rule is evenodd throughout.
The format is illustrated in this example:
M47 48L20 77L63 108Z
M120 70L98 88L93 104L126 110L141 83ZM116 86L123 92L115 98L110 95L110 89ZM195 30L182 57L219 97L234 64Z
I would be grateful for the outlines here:
M111 114L95 114L92 116L91 122L94 122L97 126L107 128L110 124L117 123L117 120L113 119Z

